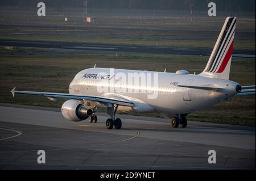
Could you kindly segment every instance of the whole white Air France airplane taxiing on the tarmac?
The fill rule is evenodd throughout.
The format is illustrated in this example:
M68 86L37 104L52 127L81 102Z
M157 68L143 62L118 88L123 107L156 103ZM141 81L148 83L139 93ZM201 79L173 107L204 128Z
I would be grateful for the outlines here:
M114 73L111 73L113 69L94 66L76 74L69 85L69 94L16 91L15 87L11 93L13 96L15 93L43 95L50 100L68 98L61 107L61 112L71 121L89 118L90 123L97 122L96 110L105 106L110 116L106 120L108 129L122 127L121 119L115 118L117 109L163 113L171 119L172 127L180 125L185 128L188 113L213 106L234 95L255 94L255 85L242 87L239 83L229 81L235 29L236 17L226 18L207 66L197 75L185 70L167 73L166 70L154 72L114 69ZM133 77L137 81L118 82L117 75L138 76ZM144 75L154 75L154 80L150 77L149 81L142 81ZM157 85L153 85L155 80ZM145 84L145 81L149 83Z

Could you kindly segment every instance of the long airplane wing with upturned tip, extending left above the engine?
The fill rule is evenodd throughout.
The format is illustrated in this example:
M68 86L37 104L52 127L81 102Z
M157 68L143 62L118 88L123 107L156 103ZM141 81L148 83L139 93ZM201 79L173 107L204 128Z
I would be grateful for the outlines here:
M99 103L110 103L110 104L118 104L120 106L129 106L135 107L134 103L129 100L123 100L118 98L110 98L105 96L92 96L92 95L81 95L81 94L64 94L64 93L53 93L53 92L32 92L32 91L17 91L15 87L11 90L11 94L13 96L15 94L30 94L30 95L43 95L46 96L50 100L56 100L57 98L69 98L69 99L77 99L77 100L91 100Z

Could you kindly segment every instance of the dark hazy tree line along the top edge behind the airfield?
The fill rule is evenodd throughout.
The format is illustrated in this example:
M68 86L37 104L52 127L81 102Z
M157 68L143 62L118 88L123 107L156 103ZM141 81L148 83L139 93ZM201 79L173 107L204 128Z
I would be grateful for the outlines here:
M0 1L0 6L36 7L38 2L47 7L82 7L83 0L8 0ZM193 10L205 10L209 2L215 2L218 11L255 11L255 0L88 0L90 8L99 9L142 9L142 10L185 10L193 5Z

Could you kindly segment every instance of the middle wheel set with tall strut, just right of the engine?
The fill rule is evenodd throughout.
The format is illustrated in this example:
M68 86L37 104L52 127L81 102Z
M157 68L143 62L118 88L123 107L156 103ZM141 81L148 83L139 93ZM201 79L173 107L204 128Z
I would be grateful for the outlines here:
M121 119L117 118L115 119L115 113L117 112L118 104L114 105L112 104L112 107L108 107L107 113L111 117L106 120L106 127L108 129L121 129L122 128L122 121Z

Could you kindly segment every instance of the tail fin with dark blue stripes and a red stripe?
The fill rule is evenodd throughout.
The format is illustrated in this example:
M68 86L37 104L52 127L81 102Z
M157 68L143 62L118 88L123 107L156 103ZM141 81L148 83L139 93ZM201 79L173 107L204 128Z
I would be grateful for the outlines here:
M236 17L226 18L207 66L201 75L229 79L236 22Z

